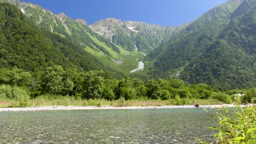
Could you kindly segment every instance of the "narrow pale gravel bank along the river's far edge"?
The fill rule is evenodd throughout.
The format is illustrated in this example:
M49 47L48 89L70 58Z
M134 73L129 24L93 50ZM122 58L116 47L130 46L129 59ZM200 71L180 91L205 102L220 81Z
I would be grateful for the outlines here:
M235 107L234 104L223 104L223 105L169 105L169 106L125 106L125 107L114 107L114 106L38 106L38 107L7 107L0 108L0 112L11 112L11 111L54 111L54 110L146 110L146 109L198 109L198 108L218 108L218 107ZM246 107L247 105L241 105Z

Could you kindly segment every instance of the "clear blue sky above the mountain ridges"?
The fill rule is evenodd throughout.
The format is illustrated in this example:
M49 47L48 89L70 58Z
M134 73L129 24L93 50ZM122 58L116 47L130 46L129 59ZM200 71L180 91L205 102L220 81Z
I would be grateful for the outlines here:
M115 17L122 21L143 21L178 26L194 21L207 10L227 0L21 0L39 4L54 14L65 13L90 25Z

